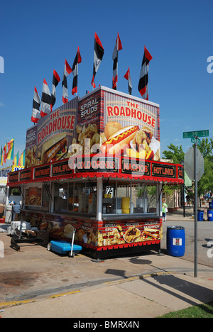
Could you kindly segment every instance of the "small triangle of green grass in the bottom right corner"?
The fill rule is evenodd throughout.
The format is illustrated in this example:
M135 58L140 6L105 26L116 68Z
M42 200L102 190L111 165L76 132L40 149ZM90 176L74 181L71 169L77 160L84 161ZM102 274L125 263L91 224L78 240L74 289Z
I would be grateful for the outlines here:
M170 312L156 318L213 318L213 301L207 304L189 306L186 309Z

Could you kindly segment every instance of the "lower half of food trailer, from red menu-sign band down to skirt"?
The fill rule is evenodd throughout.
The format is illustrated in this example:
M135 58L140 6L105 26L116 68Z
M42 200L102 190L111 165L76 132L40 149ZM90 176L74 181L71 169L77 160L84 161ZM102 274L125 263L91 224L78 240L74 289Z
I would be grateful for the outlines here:
M9 174L21 186L24 221L72 240L95 258L160 251L162 190L182 184L182 165L83 155Z

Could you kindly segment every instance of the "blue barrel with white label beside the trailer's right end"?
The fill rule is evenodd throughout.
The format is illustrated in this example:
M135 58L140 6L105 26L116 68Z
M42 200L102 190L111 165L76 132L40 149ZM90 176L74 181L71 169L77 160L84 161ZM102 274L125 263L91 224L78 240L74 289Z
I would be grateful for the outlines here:
M182 226L168 226L166 233L166 247L168 255L182 257L185 255L185 228Z

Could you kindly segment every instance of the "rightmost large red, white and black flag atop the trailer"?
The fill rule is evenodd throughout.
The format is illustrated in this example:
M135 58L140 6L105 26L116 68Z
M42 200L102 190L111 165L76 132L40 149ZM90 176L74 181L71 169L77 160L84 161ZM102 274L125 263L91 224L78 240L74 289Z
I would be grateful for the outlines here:
M152 56L146 47L144 46L144 55L141 65L140 79L138 83L138 92L140 92L143 99L148 100L148 68L149 62L152 60Z

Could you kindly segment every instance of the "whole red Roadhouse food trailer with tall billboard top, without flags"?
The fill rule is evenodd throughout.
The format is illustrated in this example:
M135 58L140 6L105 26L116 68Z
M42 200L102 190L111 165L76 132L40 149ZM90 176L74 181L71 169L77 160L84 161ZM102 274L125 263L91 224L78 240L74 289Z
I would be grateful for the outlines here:
M160 161L159 106L99 87L41 118L26 135L23 221L95 258L160 250L163 185L182 165Z

